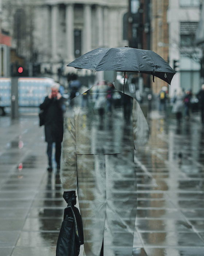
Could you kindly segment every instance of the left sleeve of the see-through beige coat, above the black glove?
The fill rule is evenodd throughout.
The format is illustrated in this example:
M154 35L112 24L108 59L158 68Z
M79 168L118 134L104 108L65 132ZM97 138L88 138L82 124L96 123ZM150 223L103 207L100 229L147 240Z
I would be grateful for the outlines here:
M66 112L65 115L60 178L63 191L74 191L77 189L74 111L72 111L72 113Z

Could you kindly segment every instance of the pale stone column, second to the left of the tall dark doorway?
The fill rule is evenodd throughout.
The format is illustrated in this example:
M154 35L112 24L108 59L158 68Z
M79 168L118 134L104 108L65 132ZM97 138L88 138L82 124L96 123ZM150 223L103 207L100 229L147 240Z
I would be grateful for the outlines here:
M58 31L58 12L59 7L57 4L51 6L51 45L52 45L52 60L56 61L58 59L57 56L57 31Z

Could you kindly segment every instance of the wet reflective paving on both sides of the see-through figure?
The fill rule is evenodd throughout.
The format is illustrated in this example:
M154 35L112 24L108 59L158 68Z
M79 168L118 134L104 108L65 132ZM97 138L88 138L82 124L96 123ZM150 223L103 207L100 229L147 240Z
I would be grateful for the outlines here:
M135 155L133 255L204 256L204 129L197 116L179 125L157 112L149 126ZM0 117L0 134L0 255L54 256L66 203L38 116Z

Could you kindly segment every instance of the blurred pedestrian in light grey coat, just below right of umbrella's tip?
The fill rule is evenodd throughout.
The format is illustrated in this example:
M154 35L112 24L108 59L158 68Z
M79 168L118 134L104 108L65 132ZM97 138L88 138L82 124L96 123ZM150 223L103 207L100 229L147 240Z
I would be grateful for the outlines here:
M174 96L174 99L173 99L173 108L172 108L172 113L176 114L176 120L178 124L181 123L183 109L184 109L184 93L182 89L179 87L176 90L176 95Z

